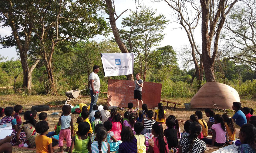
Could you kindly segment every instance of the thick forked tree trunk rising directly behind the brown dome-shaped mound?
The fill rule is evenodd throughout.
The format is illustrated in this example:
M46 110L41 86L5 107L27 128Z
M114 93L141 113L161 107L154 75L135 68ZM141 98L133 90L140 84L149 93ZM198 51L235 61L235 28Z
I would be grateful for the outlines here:
M202 59L207 82L215 82L214 62L225 18L239 0L200 0L202 6ZM211 45L213 52L211 55Z

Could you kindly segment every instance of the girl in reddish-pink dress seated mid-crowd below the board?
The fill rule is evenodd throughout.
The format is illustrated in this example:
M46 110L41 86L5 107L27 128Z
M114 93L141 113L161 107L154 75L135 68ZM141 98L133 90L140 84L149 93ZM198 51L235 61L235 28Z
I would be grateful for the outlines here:
M117 140L121 140L121 131L122 131L122 125L123 125L123 117L121 114L116 114L115 118L113 118L112 122L112 132L114 133L114 136L116 137Z

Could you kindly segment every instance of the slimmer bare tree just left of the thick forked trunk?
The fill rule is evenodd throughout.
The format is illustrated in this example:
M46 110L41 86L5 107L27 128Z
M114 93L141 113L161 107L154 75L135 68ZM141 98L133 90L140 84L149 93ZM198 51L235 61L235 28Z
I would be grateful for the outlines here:
M198 22L201 18L201 7L200 4L197 4L194 1L187 0L164 0L170 8L173 10L173 15L176 17L174 23L181 25L180 28L184 29L187 33L187 37L190 43L190 54L192 55L193 63L196 70L196 75L198 79L198 87L201 87L201 81L203 81L203 71L204 66L202 62L202 55L196 45L194 40L194 31L198 25ZM197 59L199 56L199 60ZM199 63L199 64L198 64ZM195 76L194 76L195 77ZM192 83L194 80L192 79Z

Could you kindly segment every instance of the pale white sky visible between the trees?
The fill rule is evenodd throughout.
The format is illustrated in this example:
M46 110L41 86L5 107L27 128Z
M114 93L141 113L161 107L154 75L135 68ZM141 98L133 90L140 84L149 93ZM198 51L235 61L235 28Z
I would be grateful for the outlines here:
M140 0L141 2L141 0ZM152 0L144 0L141 5L145 5L147 7L150 7L152 9L157 9L157 14L163 14L165 15L167 20L170 20L169 22L172 22L173 19L175 19L174 16L172 16L172 9L167 5L166 2L161 1L161 2L152 2ZM116 7L116 13L117 15L120 15L124 10L129 8L128 11L126 11L118 20L116 21L116 26L117 28L121 29L121 22L122 18L128 17L130 14L130 9L131 10L136 10L135 2L134 0L115 0L115 7ZM105 18L108 18L108 15L104 15ZM109 22L108 19L106 21ZM163 30L163 33L166 35L164 36L164 39L162 42L160 42L159 47L163 47L165 45L171 45L173 46L173 49L177 53L177 58L179 66L181 67L182 61L180 60L180 50L182 47L185 45L189 45L189 41L187 38L187 34L184 31L184 29L179 28L180 25L177 23L169 23L166 25L166 28ZM201 42L201 27L200 23L198 27L196 28L195 32L195 41L197 43ZM5 35L11 35L12 31L11 28L5 27L5 28L0 28L0 35L3 37ZM113 34L110 34L108 38L113 37ZM97 42L102 41L106 39L103 35L97 35L93 39L90 40L95 40ZM0 48L2 46L0 45ZM8 60L14 57L14 59L19 59L19 56L17 55L17 51L15 50L15 47L11 48L3 48L0 49L0 55L1 57L8 57Z

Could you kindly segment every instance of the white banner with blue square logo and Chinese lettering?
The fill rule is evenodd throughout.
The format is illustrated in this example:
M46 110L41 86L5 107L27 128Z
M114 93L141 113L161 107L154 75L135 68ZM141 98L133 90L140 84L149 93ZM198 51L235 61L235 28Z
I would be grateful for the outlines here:
M105 77L133 74L133 53L102 53Z

